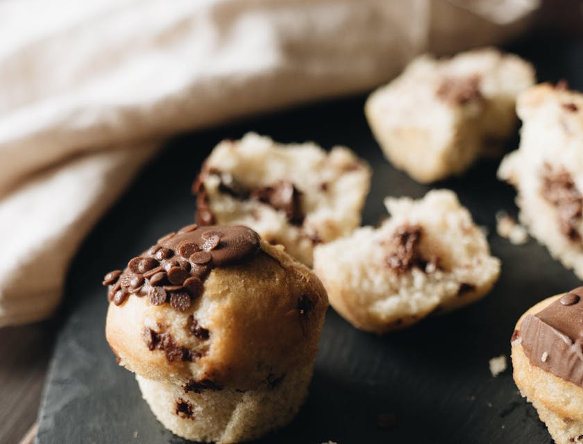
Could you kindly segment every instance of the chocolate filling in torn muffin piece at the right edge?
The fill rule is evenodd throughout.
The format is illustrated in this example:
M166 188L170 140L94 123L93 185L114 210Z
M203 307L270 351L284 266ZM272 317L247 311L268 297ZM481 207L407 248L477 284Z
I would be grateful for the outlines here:
M583 196L571 174L565 170L553 173L546 165L541 194L557 208L561 232L573 242L581 241L579 225L583 216Z

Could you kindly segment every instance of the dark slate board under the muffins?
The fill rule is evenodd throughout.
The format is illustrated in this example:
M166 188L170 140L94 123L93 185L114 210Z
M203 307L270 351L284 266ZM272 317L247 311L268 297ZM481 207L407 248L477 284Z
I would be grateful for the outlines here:
M583 89L581 42L540 39L514 50L534 60L539 78L564 77ZM71 266L37 443L185 442L155 420L133 375L115 364L103 335L107 301L101 278L161 234L192 222L190 185L219 140L255 130L281 142L350 146L374 167L364 223L385 216L385 196L420 197L430 189L384 160L366 126L363 104L361 96L313 105L169 143L99 223ZM489 228L493 254L502 259L492 293L471 307L385 337L355 330L330 309L305 406L292 425L260 443L550 442L534 409L518 395L511 370L493 378L488 361L509 355L514 323L525 309L579 281L536 242L512 246L494 234L498 210L516 213L514 191L496 180L496 167L497 162L484 161L464 178L436 185L457 191L475 221ZM397 427L377 427L378 413L385 412L396 414Z

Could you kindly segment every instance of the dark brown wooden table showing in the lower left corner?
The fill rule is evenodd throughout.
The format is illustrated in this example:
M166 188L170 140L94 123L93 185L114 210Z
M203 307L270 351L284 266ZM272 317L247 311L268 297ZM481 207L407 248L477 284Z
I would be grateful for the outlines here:
M33 427L55 333L51 321L0 329L0 443L19 443Z

